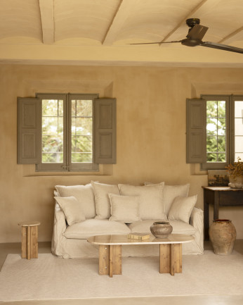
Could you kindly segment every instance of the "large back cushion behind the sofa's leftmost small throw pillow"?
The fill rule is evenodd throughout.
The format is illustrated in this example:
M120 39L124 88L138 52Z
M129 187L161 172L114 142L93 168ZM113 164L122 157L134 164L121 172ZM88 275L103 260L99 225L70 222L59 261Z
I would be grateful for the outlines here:
M56 185L55 189L58 191L60 197L74 196L81 204L86 218L93 218L96 216L95 197L90 183L88 185L72 186Z

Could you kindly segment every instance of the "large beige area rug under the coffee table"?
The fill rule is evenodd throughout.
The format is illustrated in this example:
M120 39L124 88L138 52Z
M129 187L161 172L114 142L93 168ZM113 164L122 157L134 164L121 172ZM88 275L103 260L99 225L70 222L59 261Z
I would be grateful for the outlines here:
M158 258L123 258L122 275L98 275L98 259L8 254L0 301L243 294L243 255L183 256L183 273L159 273Z

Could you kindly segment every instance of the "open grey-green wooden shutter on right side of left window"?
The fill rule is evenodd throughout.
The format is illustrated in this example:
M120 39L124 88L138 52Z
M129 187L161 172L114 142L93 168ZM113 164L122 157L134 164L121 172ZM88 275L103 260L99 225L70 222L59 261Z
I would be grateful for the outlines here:
M116 106L116 99L95 99L95 163L117 161Z

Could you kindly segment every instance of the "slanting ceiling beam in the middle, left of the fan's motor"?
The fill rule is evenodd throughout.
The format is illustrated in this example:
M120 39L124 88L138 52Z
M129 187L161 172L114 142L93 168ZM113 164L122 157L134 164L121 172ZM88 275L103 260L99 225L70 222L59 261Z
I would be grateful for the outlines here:
M112 45L117 38L117 34L126 23L127 18L133 8L137 6L139 0L121 0L119 6L117 7L116 13L114 13L114 17L112 18L112 22L105 34L105 38L103 39L102 44L104 46Z

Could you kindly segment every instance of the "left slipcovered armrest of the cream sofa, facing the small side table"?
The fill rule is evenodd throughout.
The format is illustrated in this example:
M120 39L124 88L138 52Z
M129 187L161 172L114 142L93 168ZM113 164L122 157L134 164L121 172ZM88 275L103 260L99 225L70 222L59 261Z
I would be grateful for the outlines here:
M59 255L62 253L60 251L60 247L63 244L63 233L67 228L65 215L63 211L60 209L60 206L55 204L55 213L54 213L54 223L53 223L53 236L51 240L51 251L55 255Z

